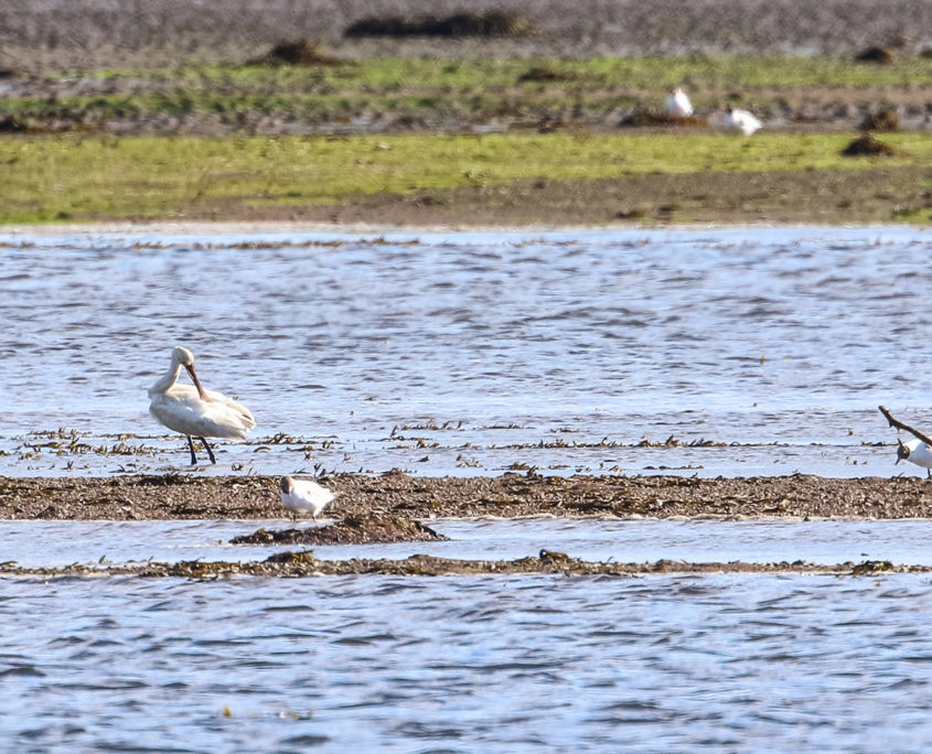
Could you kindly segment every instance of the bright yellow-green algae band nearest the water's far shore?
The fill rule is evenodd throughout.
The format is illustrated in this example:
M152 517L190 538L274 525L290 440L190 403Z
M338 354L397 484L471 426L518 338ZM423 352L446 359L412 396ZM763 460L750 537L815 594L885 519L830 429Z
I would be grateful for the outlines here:
M521 182L689 175L695 183L703 174L865 170L876 160L888 169L932 164L932 136L885 139L896 154L851 161L842 154L850 138L824 133L15 136L0 139L0 223L257 218L376 196L426 203L424 192Z

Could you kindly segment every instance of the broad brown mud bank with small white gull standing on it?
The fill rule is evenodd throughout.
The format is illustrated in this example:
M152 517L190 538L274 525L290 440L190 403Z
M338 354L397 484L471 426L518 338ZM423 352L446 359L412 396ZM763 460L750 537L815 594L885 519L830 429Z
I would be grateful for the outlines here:
M332 518L720 517L932 518L932 483L919 477L808 475L417 477L335 474ZM278 478L195 474L0 477L0 519L288 519Z

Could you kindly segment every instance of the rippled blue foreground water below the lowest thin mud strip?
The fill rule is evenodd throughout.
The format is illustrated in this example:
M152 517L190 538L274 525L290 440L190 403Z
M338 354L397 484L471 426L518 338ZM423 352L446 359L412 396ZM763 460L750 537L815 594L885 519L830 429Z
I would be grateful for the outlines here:
M913 752L932 739L928 578L0 588L0 735L17 752Z

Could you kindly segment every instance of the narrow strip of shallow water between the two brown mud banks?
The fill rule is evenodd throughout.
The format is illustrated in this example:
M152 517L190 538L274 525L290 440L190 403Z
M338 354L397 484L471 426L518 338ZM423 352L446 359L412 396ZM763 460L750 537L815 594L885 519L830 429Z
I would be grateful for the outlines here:
M450 538L394 545L231 546L259 527L286 521L0 521L0 560L24 568L106 564L152 559L265 560L275 552L312 549L324 560L404 559L431 554L461 560L515 560L540 549L589 561L690 562L804 560L836 564L864 560L932 564L928 520L432 520ZM41 547L36 547L41 542Z

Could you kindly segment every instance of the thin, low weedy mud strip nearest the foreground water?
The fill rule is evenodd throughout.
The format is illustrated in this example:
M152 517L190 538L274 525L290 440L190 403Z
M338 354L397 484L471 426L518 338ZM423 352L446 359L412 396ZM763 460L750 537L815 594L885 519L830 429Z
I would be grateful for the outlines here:
M21 568L0 563L0 578L26 577L175 577L182 579L227 579L232 577L278 577L297 579L323 575L527 575L638 577L677 573L795 573L800 575L880 575L890 573L929 573L932 566L896 566L887 560L825 566L802 560L780 563L690 563L657 560L652 563L591 562L563 552L540 550L536 558L519 560L453 560L416 554L405 560L318 560L313 552L280 552L261 561L227 562L186 560L178 563L144 562L125 566L82 566L64 568Z

